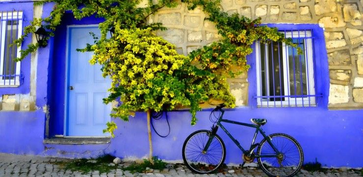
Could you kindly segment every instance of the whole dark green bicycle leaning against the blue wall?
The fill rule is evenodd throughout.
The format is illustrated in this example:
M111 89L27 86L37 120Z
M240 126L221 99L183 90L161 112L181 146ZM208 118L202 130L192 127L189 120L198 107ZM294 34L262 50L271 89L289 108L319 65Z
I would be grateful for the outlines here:
M299 172L303 162L304 153L300 144L290 135L274 133L266 135L261 126L267 123L266 119L251 119L253 124L223 119L224 104L218 105L210 114L213 122L211 130L199 130L191 133L183 144L183 160L187 167L195 173L206 174L216 172L223 165L225 159L225 145L217 134L218 128L231 138L231 140L243 152L243 164L251 163L257 158L258 166L268 176L291 177ZM216 111L219 115L216 116ZM212 120L212 114L217 120ZM237 124L255 128L252 143L249 150L243 149L237 141L221 124L221 122ZM264 137L260 143L254 143L260 132ZM257 148L257 151L254 150Z

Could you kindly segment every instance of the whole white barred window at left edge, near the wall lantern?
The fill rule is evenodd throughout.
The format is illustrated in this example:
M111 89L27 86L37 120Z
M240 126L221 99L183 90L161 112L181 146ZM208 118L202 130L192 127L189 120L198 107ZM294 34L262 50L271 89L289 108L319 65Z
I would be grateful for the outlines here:
M0 87L20 85L20 47L11 45L22 35L23 13L18 11L0 12Z

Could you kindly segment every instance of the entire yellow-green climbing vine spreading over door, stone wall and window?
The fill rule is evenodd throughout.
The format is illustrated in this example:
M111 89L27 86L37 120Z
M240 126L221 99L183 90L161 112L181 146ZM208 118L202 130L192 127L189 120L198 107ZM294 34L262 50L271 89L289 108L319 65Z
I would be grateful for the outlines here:
M80 51L94 52L90 63L102 65L103 76L111 77L110 95L104 102L122 102L113 108L112 117L126 121L134 111L170 111L183 106L190 108L191 124L194 125L201 102L214 98L231 108L235 106L235 98L229 92L223 73L235 77L248 70L246 56L252 52L251 44L274 41L296 47L276 28L261 25L260 19L250 20L222 12L220 0L182 1L189 9L201 7L209 16L206 20L214 22L222 36L221 40L203 46L189 56L178 54L175 45L153 33L166 29L162 23L148 22L150 15L163 7L175 7L177 0L147 0L147 4L140 4L144 2L140 0L43 0L36 3L45 2L55 3L50 16L34 19L15 43L21 45L40 25L46 27L50 37L54 36L67 11L76 19L92 15L103 18L99 23L101 37ZM112 37L108 38L110 31ZM18 60L23 60L38 47L38 44L29 44ZM232 66L238 66L238 70L233 70ZM110 122L107 126L105 132L113 135L116 124Z

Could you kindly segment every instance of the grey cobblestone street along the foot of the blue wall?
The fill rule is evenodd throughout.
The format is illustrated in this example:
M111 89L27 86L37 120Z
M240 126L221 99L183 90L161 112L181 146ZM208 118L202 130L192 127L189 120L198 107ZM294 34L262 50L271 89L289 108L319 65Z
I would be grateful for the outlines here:
M192 173L184 165L168 164L164 170L150 169L149 173L134 173L123 171L120 168L109 173L91 171L83 174L78 171L65 171L56 162L69 161L69 159L0 154L0 177L266 177L260 169L253 167L228 167L223 173L199 175ZM130 162L121 162L120 167ZM176 168L175 168L176 167ZM361 171L340 168L329 169L323 172L308 172L301 170L299 177L361 177Z

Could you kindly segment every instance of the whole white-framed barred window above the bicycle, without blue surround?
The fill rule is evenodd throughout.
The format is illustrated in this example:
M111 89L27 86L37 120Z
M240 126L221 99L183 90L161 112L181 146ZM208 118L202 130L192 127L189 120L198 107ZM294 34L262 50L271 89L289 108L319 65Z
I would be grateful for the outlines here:
M310 30L282 31L304 51L284 43L256 43L257 106L315 105L314 60Z

